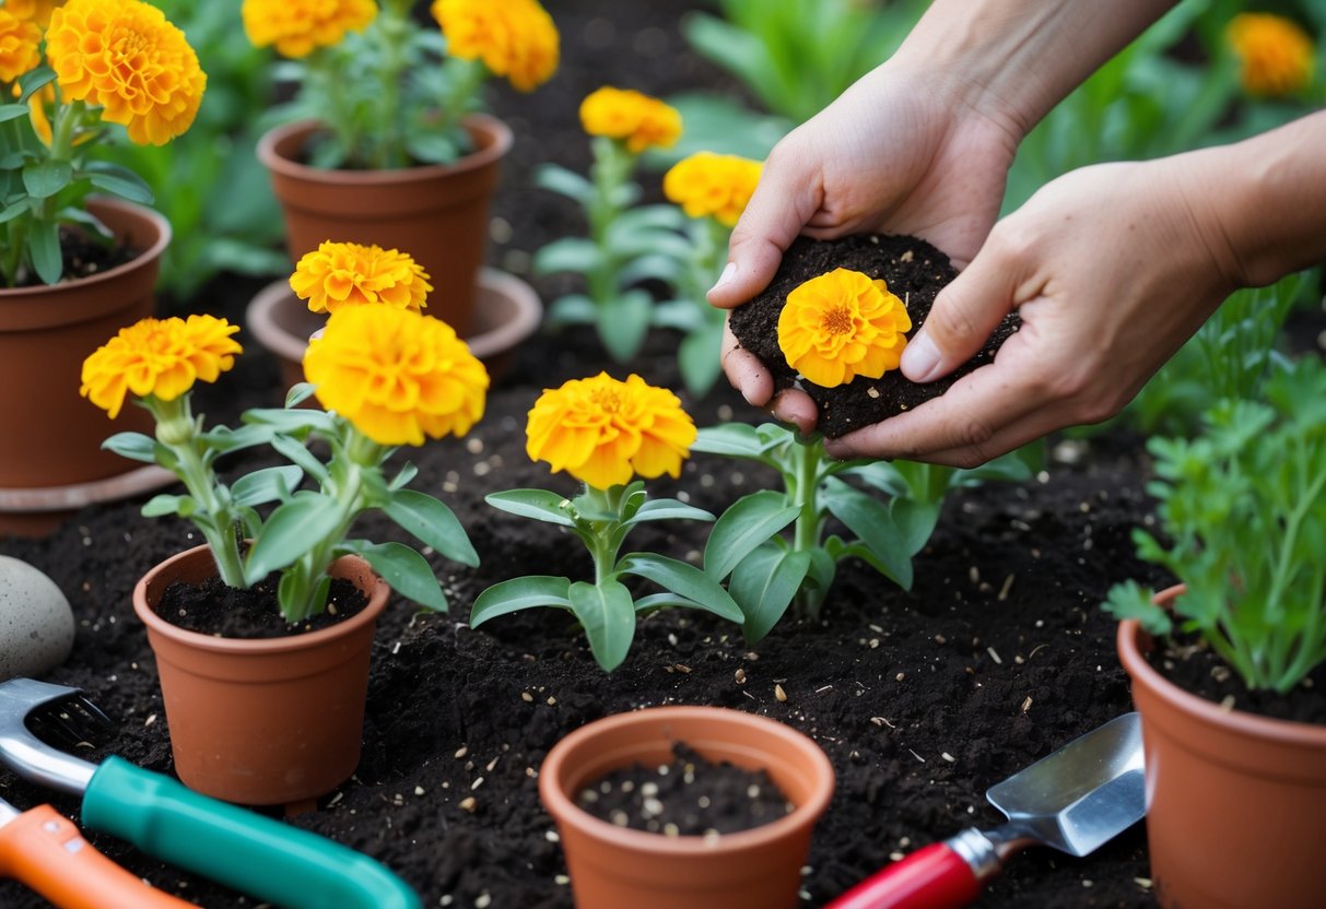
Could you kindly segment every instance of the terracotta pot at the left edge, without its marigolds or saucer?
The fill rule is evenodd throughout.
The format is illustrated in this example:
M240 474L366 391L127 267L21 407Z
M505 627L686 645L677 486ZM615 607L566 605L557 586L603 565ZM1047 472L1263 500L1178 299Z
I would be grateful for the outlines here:
M142 408L125 407L107 420L78 395L78 386L90 352L154 314L170 224L150 208L119 200L89 200L88 209L142 252L93 277L0 289L0 493L127 473L138 465L102 451L101 443L115 432L152 432Z

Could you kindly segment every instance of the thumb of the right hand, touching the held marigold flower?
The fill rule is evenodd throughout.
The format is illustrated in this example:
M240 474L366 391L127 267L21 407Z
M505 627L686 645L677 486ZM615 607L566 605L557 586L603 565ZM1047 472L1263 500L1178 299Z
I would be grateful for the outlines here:
M1017 281L1009 265L987 246L939 292L903 348L903 375L912 382L934 382L976 355L1013 309Z

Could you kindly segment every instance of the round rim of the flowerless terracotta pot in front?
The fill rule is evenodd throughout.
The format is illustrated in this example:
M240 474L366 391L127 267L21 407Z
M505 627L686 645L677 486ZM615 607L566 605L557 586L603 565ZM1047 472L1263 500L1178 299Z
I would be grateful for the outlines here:
M721 720L733 726L758 730L761 734L781 739L789 751L794 751L798 758L810 765L818 779L827 779L827 786L817 786L810 798L796 806L789 814L772 820L768 824L752 827L736 833L724 833L716 844L709 844L703 836L664 836L648 831L618 827L606 820L595 818L577 806L562 791L558 778L561 769L569 755L585 739L597 737L605 730L614 730L622 726L652 725L670 718L713 718ZM823 811L829 807L834 791L833 763L823 750L804 733L781 723L769 717L735 710L732 708L715 708L705 705L672 705L658 708L643 708L630 713L617 713L602 720L586 723L579 729L561 738L544 758L538 769L538 794L545 808L554 820L574 827L582 835L595 840L607 840L618 848L634 849L659 856L720 856L724 853L744 852L764 847L774 840L782 839L796 831L813 827Z

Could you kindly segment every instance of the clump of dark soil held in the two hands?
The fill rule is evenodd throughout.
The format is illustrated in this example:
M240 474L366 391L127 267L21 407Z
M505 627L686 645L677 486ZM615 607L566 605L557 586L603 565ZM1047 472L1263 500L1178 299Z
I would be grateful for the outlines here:
M940 289L957 277L948 256L918 237L876 233L839 240L797 237L784 254L769 286L732 310L728 321L737 342L758 356L773 374L776 392L797 383L796 370L788 366L778 348L778 315L782 305L797 286L835 268L861 272L871 280L883 278L888 290L907 306L912 322L908 338L926 323ZM879 379L857 376L837 388L823 388L812 382L801 382L800 387L819 408L819 431L837 439L853 429L896 416L931 398L939 398L957 379L992 362L994 352L1017 331L1020 323L1017 313L1006 315L976 356L935 382L915 383L899 370L890 370Z

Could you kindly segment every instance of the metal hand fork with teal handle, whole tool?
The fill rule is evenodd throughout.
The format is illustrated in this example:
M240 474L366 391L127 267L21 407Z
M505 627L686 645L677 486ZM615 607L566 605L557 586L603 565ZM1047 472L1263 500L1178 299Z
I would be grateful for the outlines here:
M354 849L199 795L123 758L99 765L76 758L46 745L29 723L77 743L111 721L77 688L0 682L0 762L24 779L81 795L82 823L91 829L290 909L419 909L414 890Z

